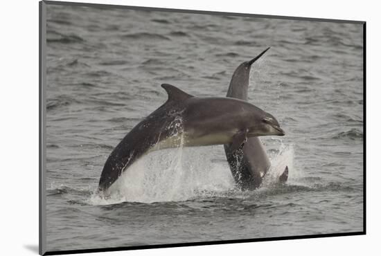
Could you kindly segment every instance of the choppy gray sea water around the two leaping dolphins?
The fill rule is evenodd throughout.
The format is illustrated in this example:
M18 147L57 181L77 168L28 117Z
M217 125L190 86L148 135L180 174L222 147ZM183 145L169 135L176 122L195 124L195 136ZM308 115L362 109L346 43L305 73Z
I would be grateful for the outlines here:
M48 5L47 250L362 231L362 38L360 24ZM112 149L166 101L160 84L224 97L268 46L249 102L286 136L262 137L261 188L235 188L213 146L149 154L118 196L95 194Z

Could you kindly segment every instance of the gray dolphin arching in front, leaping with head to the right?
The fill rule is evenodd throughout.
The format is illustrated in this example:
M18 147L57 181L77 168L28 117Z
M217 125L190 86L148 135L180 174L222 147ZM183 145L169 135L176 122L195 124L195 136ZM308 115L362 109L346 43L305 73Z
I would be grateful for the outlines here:
M223 145L234 151L252 136L284 132L269 113L243 100L197 98L162 84L168 100L139 122L107 158L98 190L107 190L132 163L158 149Z

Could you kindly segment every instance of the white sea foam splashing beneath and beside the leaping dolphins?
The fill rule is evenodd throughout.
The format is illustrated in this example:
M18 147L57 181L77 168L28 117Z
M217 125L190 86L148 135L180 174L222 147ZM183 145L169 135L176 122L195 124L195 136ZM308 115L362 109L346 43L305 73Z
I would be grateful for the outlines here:
M211 161L217 147L179 147L152 152L123 173L109 188L107 199L94 194L91 204L186 201L198 196L227 194L236 188L229 165ZM279 153L271 158L272 167L264 187L274 183L285 166L289 167L290 179L293 176L292 146L282 144Z

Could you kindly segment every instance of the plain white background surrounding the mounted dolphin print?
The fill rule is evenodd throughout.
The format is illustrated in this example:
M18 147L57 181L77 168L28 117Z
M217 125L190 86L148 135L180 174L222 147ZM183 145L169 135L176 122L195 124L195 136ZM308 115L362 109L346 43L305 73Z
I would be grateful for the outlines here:
M78 0L80 1L80 0ZM380 253L380 48L378 1L88 0L193 10L244 12L367 22L367 235L218 246L133 250L91 255L375 255ZM1 255L36 255L38 245L38 1L1 3ZM101 22L101 21L100 21ZM5 57L4 57L5 56ZM360 172L360 170L359 170Z

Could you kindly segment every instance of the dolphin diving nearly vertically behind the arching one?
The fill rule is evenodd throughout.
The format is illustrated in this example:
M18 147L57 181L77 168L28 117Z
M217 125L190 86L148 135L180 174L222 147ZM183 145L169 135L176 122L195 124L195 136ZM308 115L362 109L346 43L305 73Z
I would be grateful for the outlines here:
M251 65L265 54L267 50L269 48L257 57L254 57L254 59L249 62L243 62L236 68L231 77L227 97L247 101ZM248 138L247 143L240 150L236 150L231 144L225 144L224 149L231 174L233 174L238 187L243 190L258 188L262 183L263 176L265 176L271 165L260 138ZM287 176L288 168L286 167L279 181L284 183L287 181Z

